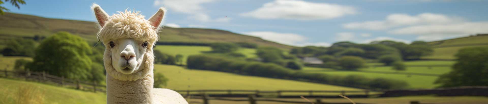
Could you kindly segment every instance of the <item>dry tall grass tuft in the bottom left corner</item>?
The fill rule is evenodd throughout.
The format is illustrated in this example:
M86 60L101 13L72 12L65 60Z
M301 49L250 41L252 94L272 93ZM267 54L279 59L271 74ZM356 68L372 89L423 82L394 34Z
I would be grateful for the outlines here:
M20 86L2 92L0 104L44 104L46 91L34 85Z

